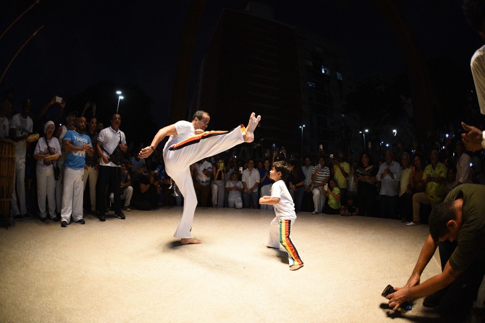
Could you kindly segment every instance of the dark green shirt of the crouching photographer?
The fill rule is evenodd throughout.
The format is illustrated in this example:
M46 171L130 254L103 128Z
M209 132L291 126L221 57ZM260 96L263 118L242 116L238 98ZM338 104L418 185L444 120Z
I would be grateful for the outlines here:
M463 224L456 249L450 257L454 270L463 271L475 260L485 260L485 185L462 184L454 188L445 202L463 198Z

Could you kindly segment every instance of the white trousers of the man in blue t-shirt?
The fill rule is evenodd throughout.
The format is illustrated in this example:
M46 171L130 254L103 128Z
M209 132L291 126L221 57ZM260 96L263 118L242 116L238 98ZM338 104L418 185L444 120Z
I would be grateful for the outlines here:
M75 222L82 219L82 181L84 168L64 168L64 192L62 197L61 221L68 224L72 218Z

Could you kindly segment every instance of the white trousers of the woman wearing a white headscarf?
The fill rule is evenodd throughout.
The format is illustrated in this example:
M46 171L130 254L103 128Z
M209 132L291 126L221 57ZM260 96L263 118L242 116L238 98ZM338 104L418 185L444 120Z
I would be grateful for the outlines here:
M54 168L40 167L36 168L37 176L37 203L39 205L40 217L45 218L46 213L46 196L49 200L49 215L53 219L56 217L56 197L55 197L55 187L56 180L54 179Z

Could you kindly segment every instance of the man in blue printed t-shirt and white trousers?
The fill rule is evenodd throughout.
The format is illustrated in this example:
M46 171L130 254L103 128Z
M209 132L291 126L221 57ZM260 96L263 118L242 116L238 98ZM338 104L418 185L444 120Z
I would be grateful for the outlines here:
M84 224L82 219L82 191L84 181L84 164L86 153L93 156L94 149L91 138L85 135L86 119L76 120L76 130L69 130L64 136L66 150L64 162L64 193L62 199L61 227L65 228L70 222L71 215L74 222Z

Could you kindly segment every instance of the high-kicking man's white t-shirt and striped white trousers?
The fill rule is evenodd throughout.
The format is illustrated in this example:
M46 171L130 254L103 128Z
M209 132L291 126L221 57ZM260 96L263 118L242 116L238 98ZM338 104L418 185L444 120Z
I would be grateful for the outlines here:
M194 125L188 121L174 123L177 135L168 138L163 148L165 171L175 181L185 198L182 219L175 231L176 238L192 238L190 233L194 220L197 197L190 173L190 165L202 158L220 154L244 142L244 126L231 131L206 131L195 135Z

